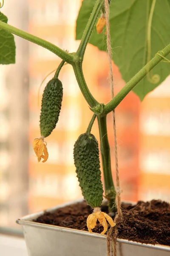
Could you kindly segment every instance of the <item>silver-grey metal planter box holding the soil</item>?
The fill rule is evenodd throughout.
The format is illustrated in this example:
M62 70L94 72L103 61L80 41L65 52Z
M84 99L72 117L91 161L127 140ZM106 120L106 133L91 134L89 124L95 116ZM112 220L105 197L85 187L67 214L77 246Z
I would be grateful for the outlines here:
M82 201L82 200L81 200ZM77 203L74 201L46 210ZM106 256L106 236L34 222L44 212L17 220L23 226L29 256ZM170 256L170 247L117 239L117 256Z

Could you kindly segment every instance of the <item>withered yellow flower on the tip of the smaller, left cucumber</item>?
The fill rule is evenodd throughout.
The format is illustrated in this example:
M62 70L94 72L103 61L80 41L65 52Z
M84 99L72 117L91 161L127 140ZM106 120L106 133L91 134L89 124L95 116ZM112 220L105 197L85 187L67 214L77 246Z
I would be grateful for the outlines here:
M38 162L40 162L41 158L43 158L44 160L42 163L45 163L48 159L48 151L46 144L44 143L44 138L40 137L40 139L35 139L33 142L33 148L38 157Z

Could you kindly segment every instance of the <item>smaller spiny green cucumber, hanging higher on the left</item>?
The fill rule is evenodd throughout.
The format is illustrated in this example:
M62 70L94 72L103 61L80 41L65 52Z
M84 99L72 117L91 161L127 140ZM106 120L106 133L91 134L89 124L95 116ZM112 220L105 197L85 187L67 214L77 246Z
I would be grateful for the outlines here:
M56 127L61 110L62 95L62 82L59 79L51 79L42 95L40 132L43 137L48 137Z

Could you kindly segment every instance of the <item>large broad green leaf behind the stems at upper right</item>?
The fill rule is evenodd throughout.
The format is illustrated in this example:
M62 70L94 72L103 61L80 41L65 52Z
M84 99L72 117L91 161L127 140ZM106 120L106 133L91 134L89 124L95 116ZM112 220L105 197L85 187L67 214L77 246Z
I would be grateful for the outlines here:
M96 0L84 0L77 18L76 39L82 33L91 15ZM147 25L152 1L113 0L110 5L111 46L113 61L119 67L122 78L129 81L147 63ZM89 43L106 50L106 35L94 29ZM170 0L156 1L151 25L151 58L170 43ZM167 56L170 58L170 56ZM154 84L147 77L133 91L142 100L170 74L170 64L161 62L150 72L159 75Z

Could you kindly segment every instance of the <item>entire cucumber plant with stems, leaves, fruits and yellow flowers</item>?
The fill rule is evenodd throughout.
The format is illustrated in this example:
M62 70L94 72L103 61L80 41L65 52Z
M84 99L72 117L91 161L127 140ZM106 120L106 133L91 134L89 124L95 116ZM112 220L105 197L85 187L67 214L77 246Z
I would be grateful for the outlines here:
M7 17L0 12L0 64L15 62L15 44L12 34L46 48L62 59L54 78L48 82L42 96L41 137L35 139L33 143L38 161L43 159L42 162L45 162L48 159L44 138L51 134L59 118L62 103L62 82L58 79L59 71L64 62L73 67L79 88L93 112L87 131L79 136L74 145L74 163L82 195L94 208L94 212L87 219L88 230L92 231L98 219L104 227L102 233L105 233L108 227L106 220L112 227L115 224L111 217L100 210L103 187L98 142L91 134L94 119L97 119L99 125L105 197L108 199L108 208L111 212L116 210L113 207L116 191L111 173L106 116L122 102L131 90L142 100L170 74L170 68L166 63L170 62L168 59L170 55L170 0L164 0L164 4L161 0L108 0L108 2L110 4L111 43L115 52L112 58L127 84L107 104L98 102L91 94L82 69L88 43L100 50L107 50L104 0L83 0L76 26L76 38L81 41L77 51L71 53L7 24Z

